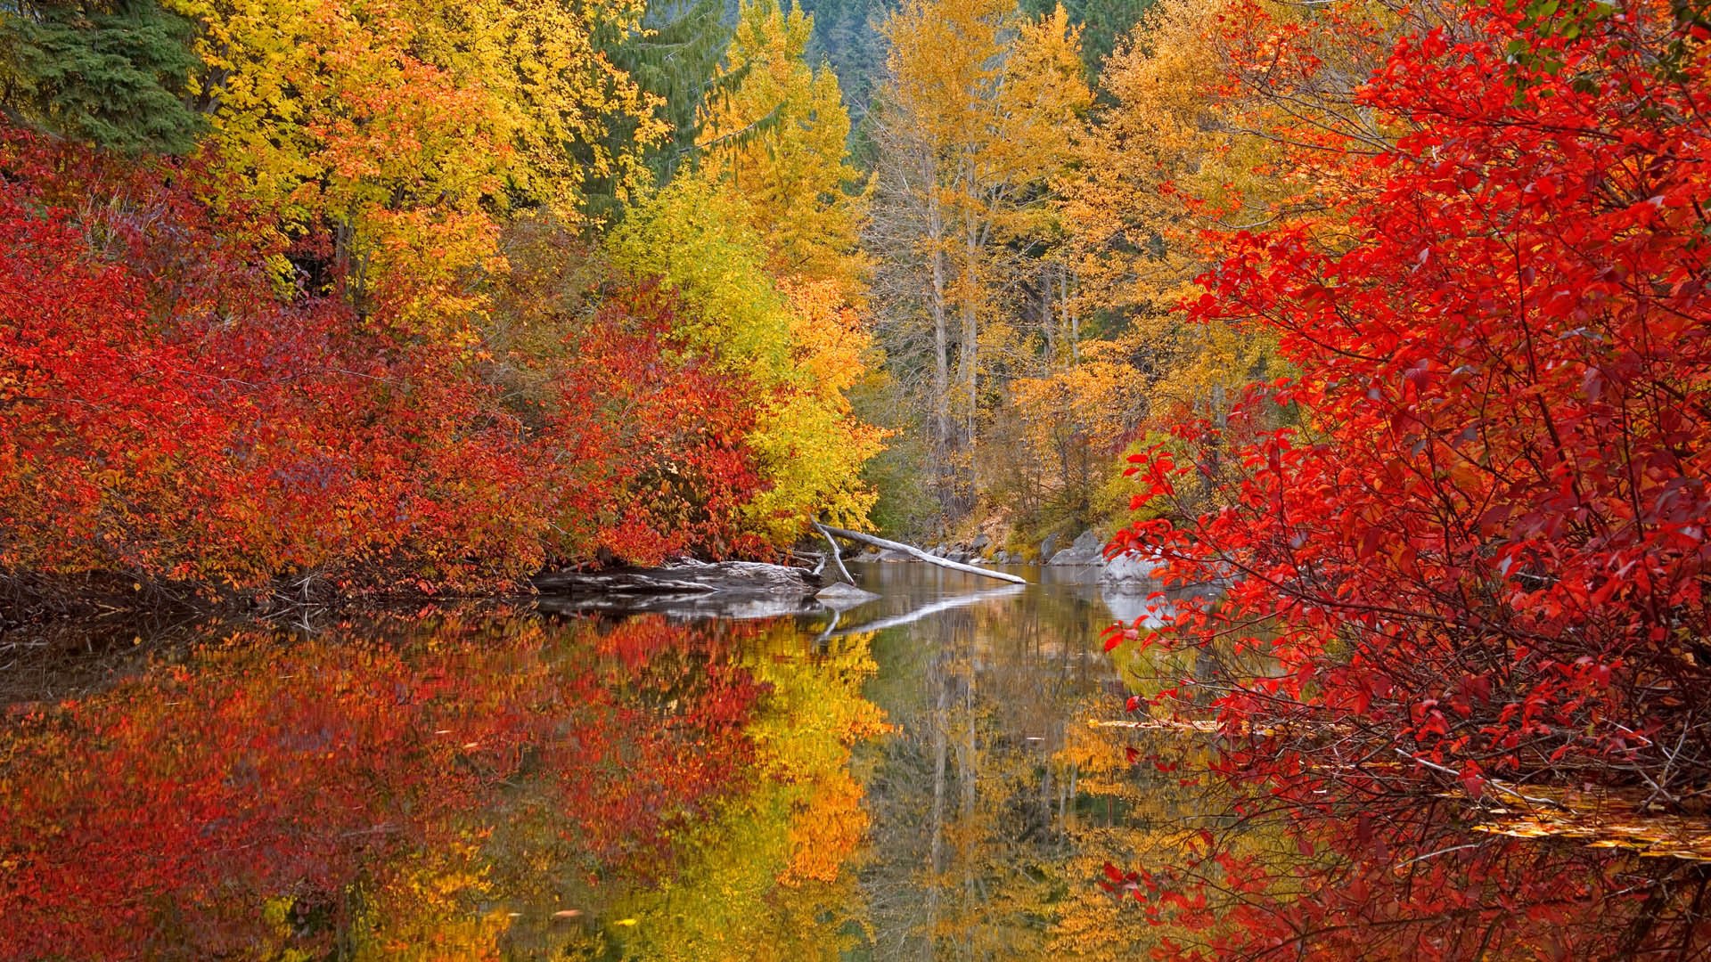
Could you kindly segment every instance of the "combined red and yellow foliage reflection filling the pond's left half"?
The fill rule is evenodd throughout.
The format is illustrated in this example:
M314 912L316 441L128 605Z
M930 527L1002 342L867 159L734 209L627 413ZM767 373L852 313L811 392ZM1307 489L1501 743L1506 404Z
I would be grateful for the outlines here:
M0 957L826 957L866 638L209 626L0 736Z

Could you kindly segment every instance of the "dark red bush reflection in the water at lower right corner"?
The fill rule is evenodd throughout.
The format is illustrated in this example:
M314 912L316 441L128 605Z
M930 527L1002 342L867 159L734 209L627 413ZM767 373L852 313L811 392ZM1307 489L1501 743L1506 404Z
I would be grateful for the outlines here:
M1702 959L1702 866L1468 832L1444 801L1362 796L1270 811L1100 887L1179 926L1155 959Z

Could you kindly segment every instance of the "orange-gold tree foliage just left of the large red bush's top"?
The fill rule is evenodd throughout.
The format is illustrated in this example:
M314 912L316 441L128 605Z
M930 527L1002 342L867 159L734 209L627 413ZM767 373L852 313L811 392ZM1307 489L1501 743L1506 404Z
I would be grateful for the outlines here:
M1110 106L1059 185L1059 214L1080 310L1122 318L1114 347L1141 385L1133 419L1218 419L1244 383L1280 373L1268 337L1189 325L1175 306L1210 264L1203 231L1307 221L1335 243L1338 214L1321 197L1345 176L1345 154L1299 147L1328 132L1382 140L1347 104L1394 21L1347 7L1360 29L1328 36L1292 29L1316 15L1292 3L1163 0L1105 63Z

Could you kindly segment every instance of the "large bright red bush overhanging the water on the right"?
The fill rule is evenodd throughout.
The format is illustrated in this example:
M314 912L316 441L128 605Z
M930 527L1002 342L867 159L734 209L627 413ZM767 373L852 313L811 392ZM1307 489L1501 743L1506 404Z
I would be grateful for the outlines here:
M1232 421L1230 507L1119 544L1234 580L1169 632L1275 657L1227 721L1371 726L1473 793L1586 765L1668 799L1711 777L1711 77L1667 3L1567 7L1396 46L1359 101L1406 134L1350 152L1338 250L1227 238L1196 313L1302 375ZM1256 436L1278 406L1309 426ZM1182 471L1136 460L1169 502Z

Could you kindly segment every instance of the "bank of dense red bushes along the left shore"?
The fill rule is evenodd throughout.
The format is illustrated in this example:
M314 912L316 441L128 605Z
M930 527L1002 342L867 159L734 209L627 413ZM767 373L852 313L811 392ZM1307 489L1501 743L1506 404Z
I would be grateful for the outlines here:
M465 336L282 300L265 212L200 187L0 137L0 573L493 589L548 560L763 548L741 524L753 404L674 342L666 294L611 294L525 419Z

